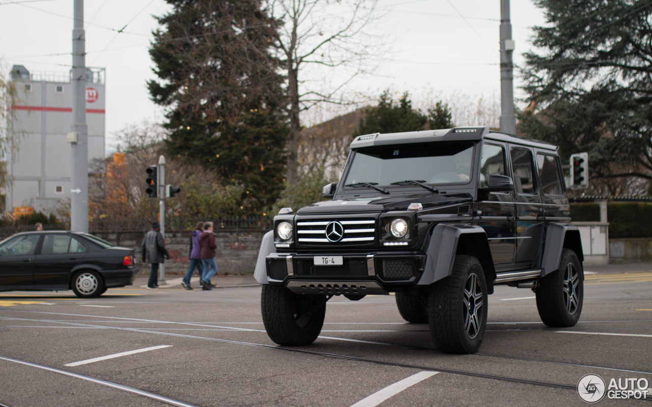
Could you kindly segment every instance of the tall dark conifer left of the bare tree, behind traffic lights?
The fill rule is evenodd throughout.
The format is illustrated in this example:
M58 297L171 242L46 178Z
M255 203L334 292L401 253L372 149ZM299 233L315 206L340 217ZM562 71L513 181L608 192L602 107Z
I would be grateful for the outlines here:
M169 154L202 163L243 187L243 213L278 197L288 127L283 77L271 54L278 21L261 0L166 0L149 51L158 80L151 98L167 107Z

